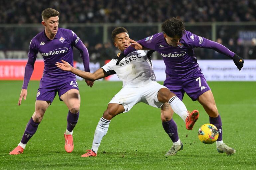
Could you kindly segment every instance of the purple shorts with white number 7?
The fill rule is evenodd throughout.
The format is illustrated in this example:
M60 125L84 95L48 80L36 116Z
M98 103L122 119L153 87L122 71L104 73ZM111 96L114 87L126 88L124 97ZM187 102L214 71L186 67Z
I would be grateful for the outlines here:
M202 93L211 90L203 74L181 80L172 79L169 76L166 76L164 86L176 94L180 100L183 99L185 92L193 101L195 101Z

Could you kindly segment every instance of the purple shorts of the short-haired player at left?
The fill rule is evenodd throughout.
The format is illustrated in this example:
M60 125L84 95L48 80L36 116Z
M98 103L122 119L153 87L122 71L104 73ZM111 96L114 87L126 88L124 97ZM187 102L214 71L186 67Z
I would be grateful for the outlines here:
M63 95L65 92L67 92L72 88L79 90L75 79L65 79L65 80L41 79L39 88L37 90L36 100L51 101L52 103L57 92L59 97L61 97L61 95ZM60 100L62 101L61 98Z

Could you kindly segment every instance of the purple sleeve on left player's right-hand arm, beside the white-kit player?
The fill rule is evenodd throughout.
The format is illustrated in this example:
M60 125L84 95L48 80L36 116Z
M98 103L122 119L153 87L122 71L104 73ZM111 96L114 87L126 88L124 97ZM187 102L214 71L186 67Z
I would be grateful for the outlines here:
M83 42L80 40L80 38L72 31L72 45L79 50L81 59L83 61L83 67L84 71L90 72L90 58L89 53Z

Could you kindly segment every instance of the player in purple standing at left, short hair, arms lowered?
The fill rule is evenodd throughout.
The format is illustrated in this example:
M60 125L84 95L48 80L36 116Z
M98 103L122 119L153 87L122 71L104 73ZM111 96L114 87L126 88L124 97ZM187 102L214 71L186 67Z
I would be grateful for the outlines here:
M12 155L23 153L27 142L36 133L38 125L43 119L45 111L53 102L57 92L61 101L64 101L68 107L67 128L64 133L65 150L73 150L73 129L79 117L80 95L75 75L71 72L65 72L55 66L55 63L62 59L73 65L73 46L80 51L84 64L84 70L89 70L88 50L71 30L59 28L59 12L52 8L47 8L42 12L42 25L45 30L37 34L30 42L28 62L25 67L24 82L18 106L21 105L22 98L26 100L27 87L34 69L34 63L38 52L43 55L45 68L43 77L37 92L35 112L29 120L21 142L10 152ZM86 80L90 87L93 82Z

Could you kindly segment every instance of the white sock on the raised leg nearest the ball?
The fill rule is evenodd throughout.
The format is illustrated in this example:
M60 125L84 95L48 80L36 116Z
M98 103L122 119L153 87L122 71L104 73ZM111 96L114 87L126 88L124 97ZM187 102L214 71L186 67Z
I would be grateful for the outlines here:
M184 122L186 122L186 118L189 116L189 114L185 104L177 96L170 98L169 104L173 111L178 114Z

